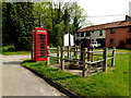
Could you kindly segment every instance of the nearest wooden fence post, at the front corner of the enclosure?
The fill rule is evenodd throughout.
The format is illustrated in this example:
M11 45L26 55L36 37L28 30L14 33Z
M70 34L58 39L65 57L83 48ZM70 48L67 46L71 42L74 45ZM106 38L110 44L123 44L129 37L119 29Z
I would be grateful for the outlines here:
M83 77L87 76L86 51L87 51L87 48L84 48L83 49L83 74L82 74Z

